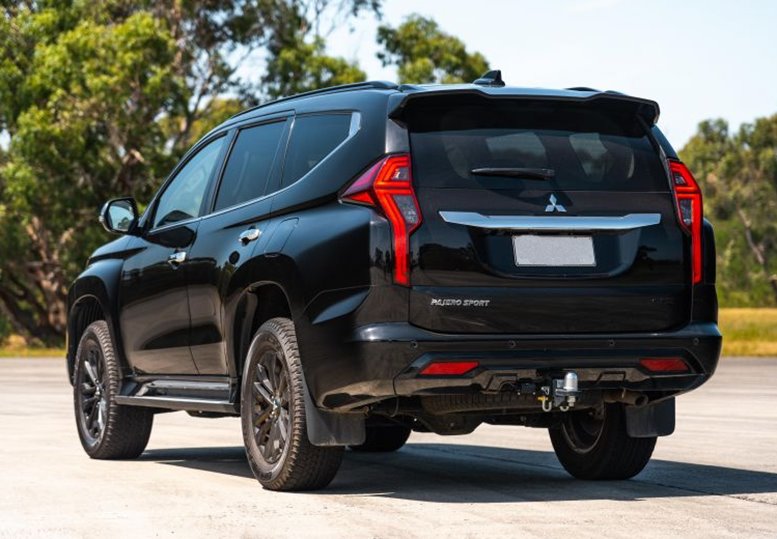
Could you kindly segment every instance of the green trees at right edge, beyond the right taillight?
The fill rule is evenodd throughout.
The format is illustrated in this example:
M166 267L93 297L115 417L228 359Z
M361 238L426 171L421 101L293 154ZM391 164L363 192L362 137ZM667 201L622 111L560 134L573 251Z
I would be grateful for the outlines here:
M734 134L724 120L702 122L681 156L716 224L721 299L777 304L777 115Z

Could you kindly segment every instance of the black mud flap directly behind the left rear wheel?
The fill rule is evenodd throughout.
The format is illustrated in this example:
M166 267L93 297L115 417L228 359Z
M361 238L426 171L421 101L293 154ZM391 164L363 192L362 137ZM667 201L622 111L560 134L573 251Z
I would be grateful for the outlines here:
M305 376L302 376L305 391L305 419L308 440L317 446L361 445L367 438L364 416L361 414L334 414L320 410L308 391Z

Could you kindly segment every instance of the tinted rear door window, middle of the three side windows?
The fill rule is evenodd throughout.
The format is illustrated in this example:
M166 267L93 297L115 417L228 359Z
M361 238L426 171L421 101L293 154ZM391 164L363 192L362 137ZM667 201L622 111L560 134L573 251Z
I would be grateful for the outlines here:
M216 197L216 211L268 193L285 121L242 129L229 153Z

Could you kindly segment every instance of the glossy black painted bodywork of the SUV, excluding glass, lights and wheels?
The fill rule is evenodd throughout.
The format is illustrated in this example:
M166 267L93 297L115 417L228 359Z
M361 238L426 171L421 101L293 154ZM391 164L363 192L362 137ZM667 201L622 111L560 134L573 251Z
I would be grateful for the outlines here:
M413 287L393 284L388 222L370 208L340 202L338 193L382 155L410 149L402 120L408 101L462 92L499 99L621 99L648 125L658 113L653 102L604 92L472 85L447 90L357 85L246 111L208 134L189 155L214 137L231 140L236 129L269 119L286 118L293 130L295 115L353 111L361 126L297 183L260 199L213 213L216 173L202 216L157 231L149 229L152 200L134 235L98 249L73 283L69 364L85 321L100 316L121 355L123 396L157 379L207 380L230 388L223 393L237 403L235 388L253 333L273 316L290 316L312 397L333 410L415 391L455 390L462 380L472 386L469 379L431 385L418 380L419 362L456 354L481 358L484 376L489 369L527 365L548 372L628 369L645 355L677 353L693 365L691 374L683 380L648 376L639 388L668 396L708 379L720 353L712 230L705 227L704 283L692 288L689 241L676 226L667 193L608 193L606 200L601 193L560 193L576 215L649 208L661 214L662 225L597 237L603 246L597 250L606 253L598 274L558 274L515 267L505 247L509 235L455 229L437 217L441 209L534 215L547 191L419 189L424 226L411 237ZM668 145L665 139L660 144ZM222 155L219 171L223 160ZM273 185L279 185L280 166L273 170ZM241 242L240 234L251 229L259 230L259 237ZM171 265L168 257L175 252L186 252L186 261ZM430 298L440 294L490 299L493 307L431 309ZM616 386L636 387L629 384ZM201 393L196 384L193 388L186 395ZM222 409L219 404L207 411Z

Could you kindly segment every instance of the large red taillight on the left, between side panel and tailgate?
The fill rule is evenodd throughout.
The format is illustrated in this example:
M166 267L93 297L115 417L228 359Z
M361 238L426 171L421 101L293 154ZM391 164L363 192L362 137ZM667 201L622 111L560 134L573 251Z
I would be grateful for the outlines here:
M410 234L421 224L413 191L408 154L390 155L375 163L342 195L342 200L380 209L391 224L394 282L410 285Z

